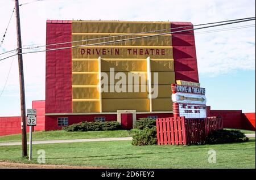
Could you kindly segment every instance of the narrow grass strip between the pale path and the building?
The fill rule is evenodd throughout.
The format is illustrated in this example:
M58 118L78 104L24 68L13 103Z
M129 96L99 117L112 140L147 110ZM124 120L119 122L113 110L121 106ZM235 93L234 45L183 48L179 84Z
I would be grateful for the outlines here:
M63 140L63 139L90 139L90 138L121 138L132 136L135 130L115 130L115 131L86 131L86 132L66 132L66 131L37 131L32 133L33 140ZM27 138L29 133L27 133ZM0 136L1 142L20 142L21 134Z

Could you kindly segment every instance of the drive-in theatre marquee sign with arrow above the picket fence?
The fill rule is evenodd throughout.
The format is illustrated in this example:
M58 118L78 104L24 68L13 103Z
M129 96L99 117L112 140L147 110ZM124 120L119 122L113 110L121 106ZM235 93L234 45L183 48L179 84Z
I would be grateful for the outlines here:
M206 118L205 88L201 88L199 83L196 86L191 82L183 84L189 85L171 84L174 116Z

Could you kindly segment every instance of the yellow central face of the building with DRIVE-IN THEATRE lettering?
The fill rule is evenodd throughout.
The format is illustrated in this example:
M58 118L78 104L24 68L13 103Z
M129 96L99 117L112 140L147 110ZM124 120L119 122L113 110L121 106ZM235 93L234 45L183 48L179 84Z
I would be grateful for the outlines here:
M151 72L158 72L158 98L152 99L153 111L171 110L171 88L175 83L174 60L172 53L171 35L140 38L136 40L112 42L104 45L93 45L99 42L121 40L123 38L136 38L154 35L157 33L170 32L170 22L119 22L119 21L73 21L72 22L72 45L87 45L72 49L72 93L73 112L93 113L100 112L100 95L97 91L98 84L98 57L101 57L101 73L108 75L108 92L102 92L102 112L117 112L122 109L135 109L137 112L149 112L149 100L146 92L110 92L109 87L117 84L119 79L110 82L110 68L114 68L114 75L124 72L124 83L140 86L147 79L147 57L151 58ZM138 33L167 29L161 32ZM125 35L138 33L136 35ZM107 37L108 38L103 38ZM98 38L97 40L89 40ZM89 40L89 41L81 41ZM129 72L143 74L144 79L139 82L134 79L128 82ZM120 77L117 77L120 78ZM104 79L106 80L106 79ZM103 80L103 81L104 81ZM142 83L143 81L143 83ZM152 74L154 84L154 74ZM170 102L168 102L170 101ZM166 107L167 106L167 107Z

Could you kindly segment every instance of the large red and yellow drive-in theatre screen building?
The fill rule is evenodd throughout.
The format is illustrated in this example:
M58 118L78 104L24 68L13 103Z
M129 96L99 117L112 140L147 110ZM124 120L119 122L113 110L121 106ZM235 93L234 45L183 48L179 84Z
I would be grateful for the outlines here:
M199 83L193 31L184 31L192 28L177 22L48 20L47 49L73 48L46 53L46 129L81 121L132 126L141 117L171 117L171 84ZM143 36L151 37L137 38ZM123 39L129 40L118 41ZM71 43L51 45L58 42Z

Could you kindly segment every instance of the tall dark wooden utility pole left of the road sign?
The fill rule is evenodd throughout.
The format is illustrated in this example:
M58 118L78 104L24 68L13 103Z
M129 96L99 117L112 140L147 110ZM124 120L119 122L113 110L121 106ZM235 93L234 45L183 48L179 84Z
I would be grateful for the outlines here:
M26 104L25 104L25 89L23 76L23 59L22 59L22 42L20 35L19 21L19 0L15 0L16 12L16 31L17 31L17 53L19 62L19 89L20 89L20 110L21 110L21 127L22 127L22 157L27 157L27 131L26 131Z

